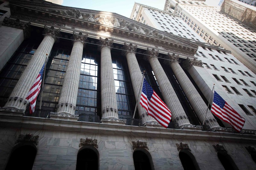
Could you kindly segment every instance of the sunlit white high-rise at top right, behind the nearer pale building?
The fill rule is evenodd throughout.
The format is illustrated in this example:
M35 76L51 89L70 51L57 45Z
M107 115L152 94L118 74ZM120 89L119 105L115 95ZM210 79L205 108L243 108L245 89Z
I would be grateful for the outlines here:
M222 5L225 5L225 1ZM177 14L205 42L230 50L240 62L256 73L255 27L246 26L202 1L167 0L164 11ZM255 15L251 16L255 18ZM254 22L255 19L252 20Z

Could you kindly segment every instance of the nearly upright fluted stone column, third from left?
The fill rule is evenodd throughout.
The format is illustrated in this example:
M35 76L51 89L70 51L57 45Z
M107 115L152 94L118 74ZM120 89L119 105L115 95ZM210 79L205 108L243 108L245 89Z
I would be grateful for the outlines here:
M118 119L116 90L112 59L110 50L113 40L102 39L99 41L100 50L100 80L101 80L101 122L110 124L123 123Z

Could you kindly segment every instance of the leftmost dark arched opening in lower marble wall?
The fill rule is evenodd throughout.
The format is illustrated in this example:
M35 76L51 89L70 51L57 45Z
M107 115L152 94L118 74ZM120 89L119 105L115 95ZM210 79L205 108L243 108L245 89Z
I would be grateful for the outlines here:
M32 144L17 145L13 148L5 170L32 169L36 158L36 146Z

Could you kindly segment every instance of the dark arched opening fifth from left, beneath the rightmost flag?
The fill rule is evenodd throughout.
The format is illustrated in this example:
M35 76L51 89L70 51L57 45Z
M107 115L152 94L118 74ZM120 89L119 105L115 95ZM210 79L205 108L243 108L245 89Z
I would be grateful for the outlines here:
M239 170L236 166L234 160L228 155L226 152L218 152L217 153L218 158L220 159L220 162L225 170Z

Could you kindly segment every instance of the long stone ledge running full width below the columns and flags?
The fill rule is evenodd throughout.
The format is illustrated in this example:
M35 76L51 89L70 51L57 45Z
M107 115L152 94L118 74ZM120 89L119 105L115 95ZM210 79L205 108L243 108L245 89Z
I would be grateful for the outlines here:
M73 132L88 132L95 134L113 134L141 137L173 137L182 139L217 140L234 142L256 142L256 136L223 132L208 132L184 129L164 129L137 127L127 125L67 121L48 118L37 118L0 113L1 127L16 127L29 129L60 130Z

